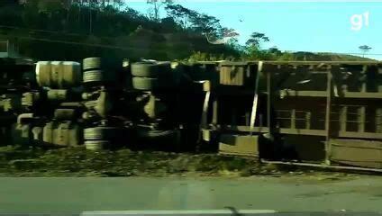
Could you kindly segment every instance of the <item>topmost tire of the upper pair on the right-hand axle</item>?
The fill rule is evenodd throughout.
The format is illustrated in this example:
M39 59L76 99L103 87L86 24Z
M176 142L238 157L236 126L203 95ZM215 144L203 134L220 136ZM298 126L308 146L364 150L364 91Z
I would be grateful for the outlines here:
M158 77L171 71L168 63L137 62L132 64L132 76Z

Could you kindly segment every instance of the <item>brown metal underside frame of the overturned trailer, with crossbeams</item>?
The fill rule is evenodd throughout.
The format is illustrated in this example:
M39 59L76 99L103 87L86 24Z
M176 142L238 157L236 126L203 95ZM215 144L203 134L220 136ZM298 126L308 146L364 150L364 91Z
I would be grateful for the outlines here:
M229 64L228 62L224 62L224 65ZM266 122L267 125L265 127L256 127L254 125L255 121L258 121L255 118L256 113L258 112L258 89L256 87L255 90L246 90L246 89L233 89L220 91L218 89L213 90L213 94L215 95L213 98L213 109L212 109L212 122L211 124L216 128L216 130L227 130L227 131L237 131L237 132L249 132L250 135L252 133L268 133L268 132L277 132L281 134L294 134L294 135L311 135L311 136L321 136L325 138L325 163L330 165L330 157L332 146L330 144L330 139L332 138L352 138L352 139L382 139L382 134L377 132L369 132L365 130L365 121L366 121L366 112L365 106L361 106L359 109L359 119L360 122L358 131L347 131L346 130L346 109L344 108L339 113L339 119L335 120L332 118L332 113L334 104L337 103L339 99L348 99L348 100L365 100L365 99L382 99L382 92L367 92L366 85L363 84L360 86L359 92L341 92L338 94L339 83L336 83L337 80L333 80L333 74L336 74L340 71L341 67L354 67L359 66L362 67L362 71L360 73L365 74L366 68L369 66L377 66L379 68L382 67L381 62L377 61L259 61L259 62L248 62L248 64L258 64L259 73L262 73L266 76L266 92L259 92L259 95L266 94L267 97L267 116ZM241 64L242 65L242 64ZM272 78L277 71L280 70L295 70L298 73L298 68L309 68L311 70L317 69L326 75L326 90L325 91L314 91L313 90L304 90L297 91L286 89L286 96L289 98L293 97L307 97L307 98L323 98L325 100L325 108L324 108L324 129L323 130L315 130L310 129L309 125L305 129L297 129L296 128L296 110L291 111L291 123L290 128L277 128L276 125L273 124L273 113L272 113L272 105L274 103L275 94L277 94L277 88L274 86L274 79ZM252 71L254 72L254 71ZM258 84L259 80L256 79L256 84ZM382 80L381 80L382 81ZM258 85L256 85L258 86ZM235 94L254 94L253 103L251 107L251 118L250 125L222 125L219 124L219 99L218 94L224 95L235 95ZM381 103L382 104L382 103ZM346 107L346 106L345 106ZM380 107L382 108L382 107ZM333 127L333 121L338 123L339 129ZM377 119L376 119L377 123ZM306 126L305 126L306 127Z

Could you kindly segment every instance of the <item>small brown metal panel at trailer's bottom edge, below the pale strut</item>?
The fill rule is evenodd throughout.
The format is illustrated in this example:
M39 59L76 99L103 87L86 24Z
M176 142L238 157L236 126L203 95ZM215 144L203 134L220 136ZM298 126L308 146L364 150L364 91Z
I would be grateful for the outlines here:
M219 140L219 153L259 157L259 136L222 134Z

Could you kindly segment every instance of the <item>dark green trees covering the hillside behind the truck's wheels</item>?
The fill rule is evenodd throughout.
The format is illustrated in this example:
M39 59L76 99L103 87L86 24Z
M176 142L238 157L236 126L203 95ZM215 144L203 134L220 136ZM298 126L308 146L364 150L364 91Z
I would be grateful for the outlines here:
M172 5L165 3L150 1L157 8ZM186 58L196 50L239 56L229 46L215 46L205 40L204 31L214 31L214 35L220 31L216 18L178 5L177 10L187 16L182 18L186 23L181 23L173 9L166 18L150 19L117 0L0 4L0 25L6 26L0 27L0 36L16 40L23 56L46 60L88 56L168 60Z

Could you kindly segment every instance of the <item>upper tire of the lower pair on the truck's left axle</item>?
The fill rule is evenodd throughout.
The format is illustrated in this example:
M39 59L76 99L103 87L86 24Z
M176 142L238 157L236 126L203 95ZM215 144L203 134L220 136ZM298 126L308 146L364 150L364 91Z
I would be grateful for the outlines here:
M84 130L85 140L111 140L115 139L118 129L115 127L96 127Z

